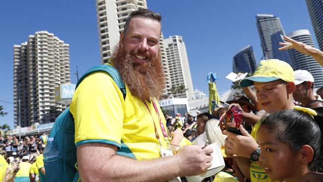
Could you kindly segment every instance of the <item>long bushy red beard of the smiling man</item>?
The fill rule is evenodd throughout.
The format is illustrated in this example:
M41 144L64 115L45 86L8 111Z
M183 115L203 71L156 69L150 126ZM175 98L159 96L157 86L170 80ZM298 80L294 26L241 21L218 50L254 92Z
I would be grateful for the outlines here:
M148 52L143 53L151 57ZM111 56L113 66L119 71L123 82L128 86L132 95L141 100L158 98L164 90L165 79L161 63L161 51L151 61L137 64L132 59L133 52L127 52L122 41L117 45Z

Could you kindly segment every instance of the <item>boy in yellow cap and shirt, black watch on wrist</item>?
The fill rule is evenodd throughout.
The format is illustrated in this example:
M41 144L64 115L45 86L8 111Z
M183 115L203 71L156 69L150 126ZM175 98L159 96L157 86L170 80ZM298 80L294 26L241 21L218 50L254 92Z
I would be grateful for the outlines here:
M268 113L282 109L293 109L293 92L295 90L293 68L277 59L260 61L252 77L240 81L241 87L254 85L258 102ZM256 142L256 132L260 126L258 121L251 134L242 126L243 135L225 131L228 135L225 151L228 157L234 157L242 174L251 182L273 182L264 169L258 164L260 148ZM239 157L238 157L239 156Z

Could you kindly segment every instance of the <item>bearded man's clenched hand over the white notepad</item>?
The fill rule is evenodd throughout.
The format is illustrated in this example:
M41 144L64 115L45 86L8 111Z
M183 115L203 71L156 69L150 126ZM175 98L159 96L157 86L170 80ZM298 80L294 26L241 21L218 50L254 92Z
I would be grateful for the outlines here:
M188 145L181 147L175 157L180 161L180 176L194 176L206 173L212 166L211 146Z

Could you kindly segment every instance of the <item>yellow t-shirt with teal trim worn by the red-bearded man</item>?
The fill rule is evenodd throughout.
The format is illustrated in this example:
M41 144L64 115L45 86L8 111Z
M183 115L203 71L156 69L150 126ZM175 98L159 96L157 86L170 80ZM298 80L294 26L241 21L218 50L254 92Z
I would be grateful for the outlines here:
M167 147L159 117L152 101L133 96L126 86L126 98L105 72L87 76L73 95L70 111L75 121L75 144L106 143L118 147L117 154L134 159L160 157L156 125L161 145ZM158 101L158 112L166 130L166 121Z

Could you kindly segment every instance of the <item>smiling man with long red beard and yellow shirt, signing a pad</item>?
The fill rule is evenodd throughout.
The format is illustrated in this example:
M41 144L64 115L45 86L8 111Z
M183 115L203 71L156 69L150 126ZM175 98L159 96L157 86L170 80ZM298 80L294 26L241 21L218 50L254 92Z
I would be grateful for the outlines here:
M160 21L148 9L133 11L120 34L112 65L125 98L104 72L90 74L75 91L70 110L82 182L164 182L211 166L210 147L184 146L164 157L172 151L156 99L164 89Z

